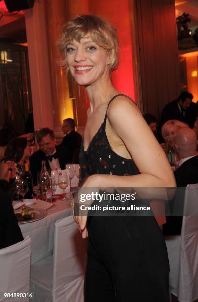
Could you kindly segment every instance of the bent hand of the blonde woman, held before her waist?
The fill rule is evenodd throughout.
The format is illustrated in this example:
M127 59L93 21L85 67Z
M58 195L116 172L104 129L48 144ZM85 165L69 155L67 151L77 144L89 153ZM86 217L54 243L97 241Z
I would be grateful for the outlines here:
M98 175L98 174L91 175L85 180L82 187L78 191L78 204L80 204L82 202L80 200L80 196L82 194L86 195L86 194L90 194L91 192L94 192L94 191L99 191L99 189L98 189L99 180L100 180L100 175ZM91 192L90 192L90 190L91 190ZM86 200L86 202L85 203L83 202L83 204L91 205L93 203L93 201L94 200ZM71 208L72 208L74 220L75 220L80 232L82 233L82 238L87 238L88 230L87 230L86 225L87 225L88 211L82 212L82 211L80 211L80 208L79 208L78 209L79 214L82 214L82 215L75 216L75 199L73 199L71 202Z

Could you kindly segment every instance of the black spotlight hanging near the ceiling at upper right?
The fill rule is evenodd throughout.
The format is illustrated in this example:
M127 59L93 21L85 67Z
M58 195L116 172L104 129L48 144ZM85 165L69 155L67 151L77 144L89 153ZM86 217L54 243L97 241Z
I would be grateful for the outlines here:
M190 38L192 31L188 29L188 23L191 22L189 14L183 13L177 17L177 38L178 40Z

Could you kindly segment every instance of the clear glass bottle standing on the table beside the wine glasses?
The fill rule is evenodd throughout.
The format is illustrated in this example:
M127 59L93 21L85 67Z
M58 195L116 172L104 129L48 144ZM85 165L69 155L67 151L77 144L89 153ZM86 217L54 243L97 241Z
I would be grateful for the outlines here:
M52 198L51 180L46 168L45 160L42 160L42 168L40 172L40 194L42 200L50 201Z

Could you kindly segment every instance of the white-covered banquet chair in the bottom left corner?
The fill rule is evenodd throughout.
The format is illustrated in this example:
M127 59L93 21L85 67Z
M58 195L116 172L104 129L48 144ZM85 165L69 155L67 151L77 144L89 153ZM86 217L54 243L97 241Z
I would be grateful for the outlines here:
M0 301L29 301L29 298L3 298L2 293L29 293L30 237L0 249Z

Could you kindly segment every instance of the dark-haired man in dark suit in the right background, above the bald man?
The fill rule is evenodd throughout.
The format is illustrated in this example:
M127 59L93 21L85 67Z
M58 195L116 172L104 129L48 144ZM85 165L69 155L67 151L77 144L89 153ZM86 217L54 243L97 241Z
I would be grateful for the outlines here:
M198 114L198 104L192 102L193 95L183 91L177 100L165 105L162 110L159 127L170 119L177 119L193 128Z

